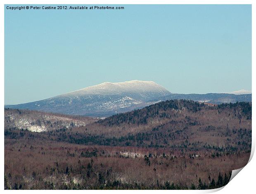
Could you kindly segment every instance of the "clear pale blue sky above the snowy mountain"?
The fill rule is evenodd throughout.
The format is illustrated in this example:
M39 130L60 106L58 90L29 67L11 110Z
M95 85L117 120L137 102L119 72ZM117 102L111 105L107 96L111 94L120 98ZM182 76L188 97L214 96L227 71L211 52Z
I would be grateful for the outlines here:
M185 94L251 90L251 5L7 6L5 104L106 81L152 80Z

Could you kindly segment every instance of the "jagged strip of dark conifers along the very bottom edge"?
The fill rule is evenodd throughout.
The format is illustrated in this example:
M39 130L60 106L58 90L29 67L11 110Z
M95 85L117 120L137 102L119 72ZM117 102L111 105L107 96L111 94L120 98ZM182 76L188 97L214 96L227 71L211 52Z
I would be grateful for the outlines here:
M88 172L90 172L90 165ZM108 173L108 172L107 172ZM90 177L90 173L86 174L86 177ZM145 185L143 183L138 183L138 182L121 182L120 180L107 180L108 175L102 175L102 173L98 173L96 177L93 175L90 177L91 179L95 179L94 184L88 185L86 184L86 180L83 183L76 183L76 182L50 182L50 181L43 181L43 180L36 180L36 175L33 174L31 177L31 180L34 181L36 184L33 185L32 187L27 187L27 185L24 182L15 182L14 184L10 185L10 182L8 181L11 179L11 175L5 175L4 177L4 187L5 189L14 189L14 190L19 190L19 189L48 189L48 190L55 190L55 189L61 189L61 190L84 190L84 189L160 189L160 190L204 190L204 189L216 189L223 187L228 184L230 177L231 177L231 172L230 175L227 176L225 173L225 176L223 175L218 176L217 182L214 179L211 179L209 176L209 184L206 184L206 182L202 182L201 178L199 177L198 184L195 184L194 182L191 183L191 185L179 185L175 184L170 181L166 181L164 184L159 183L159 180L156 180L155 184L151 185Z

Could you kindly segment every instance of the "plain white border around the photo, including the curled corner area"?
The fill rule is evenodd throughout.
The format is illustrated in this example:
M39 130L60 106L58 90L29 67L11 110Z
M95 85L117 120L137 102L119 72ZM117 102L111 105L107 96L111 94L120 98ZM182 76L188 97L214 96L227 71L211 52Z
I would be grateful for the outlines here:
M256 3L254 3L254 0L161 0L161 2L157 1L157 0L55 0L54 2L52 0L3 0L2 1L2 7L0 8L0 15L1 15L1 20L0 20L0 26L2 26L1 28L1 76L0 76L0 88L2 91L2 95L0 96L0 103L2 104L2 110L0 111L0 116L1 116L1 126L2 126L2 132L1 132L1 140L2 140L2 144L1 144L1 174L0 174L0 181L1 181L1 190L3 190L4 188L4 134L3 134L3 119L4 119L4 4L105 4L105 5L110 5L110 4L251 4L252 5L252 53L256 53L255 51L255 13L256 13ZM256 75L255 72L255 57L252 56L252 75ZM254 90L255 90L255 84L256 83L256 79L254 76L252 76L252 93L254 94ZM256 91L256 90L255 90ZM255 95L252 95L252 101L255 101ZM252 103L252 115L254 118L255 115L255 104ZM255 128L255 123L254 123L254 119L252 121L252 128ZM230 181L230 183L228 183L228 185L226 185L224 187L224 189L221 189L218 193L252 193L252 191L255 191L254 188L254 173L256 172L255 168L256 168L256 159L255 156L252 157L253 152L255 150L255 133L254 130L252 132L252 152L251 152L251 158L250 158L250 162L247 164L247 166L245 166L245 168L243 168L241 170L241 172L239 173L238 176L236 176L234 179L232 179ZM213 189L210 191L161 191L163 193L208 193L208 192L215 192L219 189ZM4 190L4 192L23 192L23 193L27 193L27 192L35 192L35 191L6 191ZM44 191L36 191L39 193L43 193ZM71 191L48 191L48 192L71 192ZM99 192L104 192L104 193L113 193L113 192L120 192L120 191L109 191L109 190L104 190L104 191L72 191L72 192L90 192L90 193L99 193ZM137 191L137 190L133 190L133 191L129 191L129 190L123 190L121 191L123 193L128 193L128 192L142 192L142 193L153 193L153 192L157 192L155 190L142 190L142 191Z

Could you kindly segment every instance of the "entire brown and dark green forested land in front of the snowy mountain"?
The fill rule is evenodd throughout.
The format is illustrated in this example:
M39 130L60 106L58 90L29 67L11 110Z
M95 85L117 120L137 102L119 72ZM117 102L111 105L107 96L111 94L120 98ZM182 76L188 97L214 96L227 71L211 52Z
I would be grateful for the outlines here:
M251 102L168 100L98 120L62 115L55 127L34 111L43 132L14 125L14 112L5 110L5 189L211 189L251 151Z

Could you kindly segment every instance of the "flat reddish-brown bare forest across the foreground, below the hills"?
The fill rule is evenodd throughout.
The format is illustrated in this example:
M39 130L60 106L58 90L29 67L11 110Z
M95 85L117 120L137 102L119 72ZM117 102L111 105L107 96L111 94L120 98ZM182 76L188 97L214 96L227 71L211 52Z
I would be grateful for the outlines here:
M19 139L5 138L5 189L212 189L225 185L228 172L250 155L222 148L85 146L20 132Z

